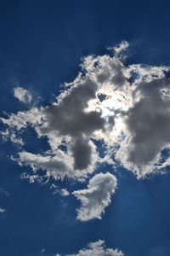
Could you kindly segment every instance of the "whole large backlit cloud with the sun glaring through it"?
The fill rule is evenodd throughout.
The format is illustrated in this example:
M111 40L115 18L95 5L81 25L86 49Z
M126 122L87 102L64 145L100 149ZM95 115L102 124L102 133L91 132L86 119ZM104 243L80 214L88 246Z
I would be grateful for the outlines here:
M113 165L113 156L137 177L166 167L169 161L161 165L160 158L161 150L170 143L170 67L127 66L122 55L127 46L123 41L112 48L113 55L85 57L82 72L63 85L53 104L1 118L10 131L3 131L3 138L11 137L23 146L19 157L13 159L31 166L34 172L45 170L56 179L84 180L100 162ZM25 99L20 87L14 91ZM26 152L17 135L27 126L37 137L47 137L50 150ZM105 144L103 158L95 143L100 140Z

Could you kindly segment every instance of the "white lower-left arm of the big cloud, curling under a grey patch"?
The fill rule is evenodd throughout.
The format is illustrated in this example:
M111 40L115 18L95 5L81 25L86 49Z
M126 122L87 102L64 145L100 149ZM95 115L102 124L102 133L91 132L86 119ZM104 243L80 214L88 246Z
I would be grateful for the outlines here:
M65 153L60 149L55 152L45 152L44 154L32 154L22 151L19 153L18 158L11 157L11 159L16 160L20 166L31 166L34 173L39 169L46 171L46 177L53 176L55 179L70 177L82 181L87 177L88 173L94 172L97 159L94 144L90 142L88 145L92 150L91 154L93 159L90 160L89 166L83 170L80 170L79 166L79 168L77 167L75 170L75 161L72 157L71 149L69 150L69 148L68 153ZM83 152L81 153L81 149L79 150L79 156L77 157L80 157L83 154ZM83 157L87 160L86 155L82 155L82 158Z

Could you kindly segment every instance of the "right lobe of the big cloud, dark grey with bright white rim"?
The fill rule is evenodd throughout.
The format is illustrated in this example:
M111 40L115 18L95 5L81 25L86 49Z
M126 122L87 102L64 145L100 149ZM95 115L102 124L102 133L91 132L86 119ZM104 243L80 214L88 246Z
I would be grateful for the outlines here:
M133 90L133 107L124 116L128 136L117 156L138 177L156 170L161 150L170 143L169 92L166 77L142 80Z

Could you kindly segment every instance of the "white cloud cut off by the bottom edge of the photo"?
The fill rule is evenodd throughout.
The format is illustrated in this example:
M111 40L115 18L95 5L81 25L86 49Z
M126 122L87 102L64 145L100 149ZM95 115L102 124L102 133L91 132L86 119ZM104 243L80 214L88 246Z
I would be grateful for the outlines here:
M88 243L87 248L81 249L77 254L66 254L65 256L123 256L124 253L118 249L105 247L105 241L99 240ZM61 256L57 253L55 256Z

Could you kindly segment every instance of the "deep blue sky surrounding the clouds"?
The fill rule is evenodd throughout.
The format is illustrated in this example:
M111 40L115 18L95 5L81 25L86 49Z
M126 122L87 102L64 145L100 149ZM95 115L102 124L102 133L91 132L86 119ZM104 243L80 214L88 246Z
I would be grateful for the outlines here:
M26 108L13 97L15 85L53 102L84 55L101 55L122 40L130 44L130 62L170 65L169 9L169 1L1 1L1 116ZM14 150L10 143L0 149L0 207L7 209L0 212L0 255L38 256L42 248L48 255L74 253L98 239L126 256L170 255L168 173L138 181L122 170L103 220L80 223L75 198L20 179L30 169L8 159Z

